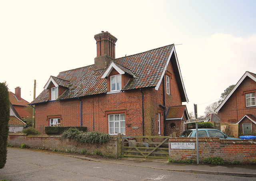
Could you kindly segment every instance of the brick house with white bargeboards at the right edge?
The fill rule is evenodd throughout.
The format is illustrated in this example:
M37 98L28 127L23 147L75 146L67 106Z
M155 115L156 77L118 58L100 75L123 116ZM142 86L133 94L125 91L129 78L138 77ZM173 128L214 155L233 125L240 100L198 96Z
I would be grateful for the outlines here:
M256 74L246 71L216 109L221 123L239 124L239 134L256 132Z

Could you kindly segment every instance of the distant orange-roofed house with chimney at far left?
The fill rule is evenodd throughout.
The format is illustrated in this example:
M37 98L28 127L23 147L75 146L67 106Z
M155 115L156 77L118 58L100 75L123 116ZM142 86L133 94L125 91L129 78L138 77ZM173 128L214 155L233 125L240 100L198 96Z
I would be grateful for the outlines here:
M10 120L9 131L17 132L22 131L26 123L22 119L32 118L32 107L29 102L21 98L21 88L16 87L15 93L9 92L10 100Z

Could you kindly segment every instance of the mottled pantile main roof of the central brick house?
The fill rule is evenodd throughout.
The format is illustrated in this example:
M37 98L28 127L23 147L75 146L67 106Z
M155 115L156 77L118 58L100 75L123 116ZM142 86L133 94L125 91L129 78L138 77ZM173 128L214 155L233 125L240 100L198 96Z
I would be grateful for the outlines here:
M114 63L124 72L134 75L122 91L145 87L156 87L161 79L168 57L174 45L167 45L143 53L114 59ZM107 81L102 79L106 69L94 70L94 65L60 72L54 81L64 87L69 87L58 98L76 98L107 92ZM48 101L48 89L45 89L31 104Z

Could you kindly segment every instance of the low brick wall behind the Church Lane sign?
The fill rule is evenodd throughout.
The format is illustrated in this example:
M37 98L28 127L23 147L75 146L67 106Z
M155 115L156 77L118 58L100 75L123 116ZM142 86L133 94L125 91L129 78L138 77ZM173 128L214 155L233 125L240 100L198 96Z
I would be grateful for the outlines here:
M171 142L195 143L195 150L170 149ZM199 161L207 157L222 157L224 162L256 162L256 142L252 140L220 140L219 138L198 138ZM173 159L196 160L196 138L169 138L169 155Z

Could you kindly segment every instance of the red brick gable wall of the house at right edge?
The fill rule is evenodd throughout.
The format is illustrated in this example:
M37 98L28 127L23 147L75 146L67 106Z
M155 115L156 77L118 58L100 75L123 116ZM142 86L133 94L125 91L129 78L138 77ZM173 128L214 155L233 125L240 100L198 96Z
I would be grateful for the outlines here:
M246 107L246 93L256 91L256 82L246 77L220 109L222 123L238 122L244 114L256 115L256 106Z

